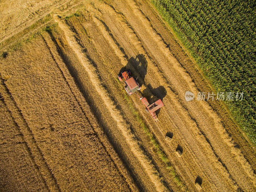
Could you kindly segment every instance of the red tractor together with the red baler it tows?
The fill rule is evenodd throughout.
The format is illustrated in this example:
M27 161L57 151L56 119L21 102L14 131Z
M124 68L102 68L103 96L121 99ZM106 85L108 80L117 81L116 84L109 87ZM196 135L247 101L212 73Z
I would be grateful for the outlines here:
M142 103L146 106L146 111L151 114L151 116L157 121L156 110L163 107L164 103L161 99L157 100L156 102L149 105L148 100L145 97L140 97L139 91L141 89L138 82L132 77L131 71L127 69L127 71L123 71L119 74L118 79L122 82L122 78L124 78L124 89L128 93L128 95L132 95L132 93L136 93L137 96L140 98Z

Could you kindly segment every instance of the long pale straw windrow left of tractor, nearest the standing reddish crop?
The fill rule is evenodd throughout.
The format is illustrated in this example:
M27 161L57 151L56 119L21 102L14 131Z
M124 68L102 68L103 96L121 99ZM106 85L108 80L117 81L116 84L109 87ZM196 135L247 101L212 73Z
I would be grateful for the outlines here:
M120 131L123 133L122 135L125 137L127 144L130 145L130 148L133 152L133 154L137 157L140 164L144 167L144 170L147 172L150 180L155 185L155 188L157 191L163 191L163 186L161 182L158 180L158 177L152 172L152 167L149 164L146 156L141 152L137 142L132 138L132 133L127 130L127 127L125 126L124 119L120 112L114 107L113 102L108 96L108 93L104 90L104 88L99 84L99 81L97 81L98 76L95 74L95 68L91 66L91 64L87 61L86 57L84 57L83 53L80 50L80 45L76 43L76 39L69 34L70 30L67 26L65 26L60 20L58 20L55 17L56 22L59 24L60 28L63 30L66 40L68 44L70 45L71 49L75 52L78 60L83 64L84 69L88 73L88 76L94 84L94 87L96 91L99 93L100 97L102 98L104 104L106 105L107 109L109 110L112 118L116 121L117 127L119 127Z

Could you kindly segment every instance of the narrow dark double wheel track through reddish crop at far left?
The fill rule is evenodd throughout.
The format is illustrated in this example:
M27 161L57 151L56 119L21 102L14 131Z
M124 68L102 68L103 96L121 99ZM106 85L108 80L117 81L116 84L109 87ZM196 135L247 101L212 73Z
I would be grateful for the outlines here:
M49 165L48 165L47 162L45 161L41 149L38 147L38 145L37 145L37 143L36 143L34 134L33 134L32 131L30 130L27 121L25 120L24 116L22 115L20 108L18 108L18 105L17 105L17 103L15 102L14 98L12 97L12 94L11 94L11 92L9 91L7 85L4 83L4 80L2 79L1 72L0 72L0 79L1 79L1 84L2 84L2 86L3 86L3 89L4 89L4 91L5 91L6 97L9 97L10 102L13 103L13 107L16 108L16 111L15 111L14 113L16 113L17 116L20 116L21 124L23 124L23 125L26 127L26 129L27 129L27 132L28 132L28 133L25 133L25 134L28 134L28 135L29 135L29 137L30 137L30 139L31 139L31 143L30 143L30 144L31 144L31 145L34 145L34 147L35 147L36 150L38 151L38 152L37 152L37 153L38 153L37 155L39 155L39 159L40 159L40 160L42 161L42 163L45 165L46 172L48 172L48 174L49 174L48 176L49 176L49 177L52 177L52 180L53 180L53 181L49 181L49 180L48 180L48 182L52 182L52 184L54 184L54 186L56 187L55 190L61 192L60 186L59 186L59 184L57 183L56 178L54 177L54 175L53 175L51 169L49 168ZM7 107L7 104L6 104L5 102L4 102L4 104L5 104L6 107ZM8 108L8 107L7 107L7 108ZM15 109L14 109L14 110L15 110ZM10 110L9 108L8 108L8 111L9 111L11 114L13 113L13 112L11 112L11 110ZM12 115L11 115L11 116L12 116ZM12 119L13 119L14 123L16 124L16 126L17 126L17 127L20 127L20 125L19 125L20 123L17 123L17 122L15 121L15 119L14 119L13 116L12 116ZM19 130L19 132L20 132L20 136L25 140L24 134L23 134L23 132L21 132L21 128L18 128L18 130ZM25 140L25 141L26 141L26 140ZM36 161L35 161L35 159L34 159L34 157L33 157L32 150L31 150L31 148L28 146L27 141L26 141L26 151L28 152L29 156L31 157L31 160L34 162L34 165L36 166L36 170L38 170L38 172L42 175L42 177L43 177L42 179L43 179L44 184L46 185L46 188L48 189L48 191L50 191L49 186L47 185L47 182L46 182L46 180L45 180L45 178L44 178L44 176L46 176L46 175L43 176L42 172L41 172L40 169L39 169L39 166L36 164ZM41 167L41 166L40 166L40 167ZM42 169L42 168L41 168L41 169Z

